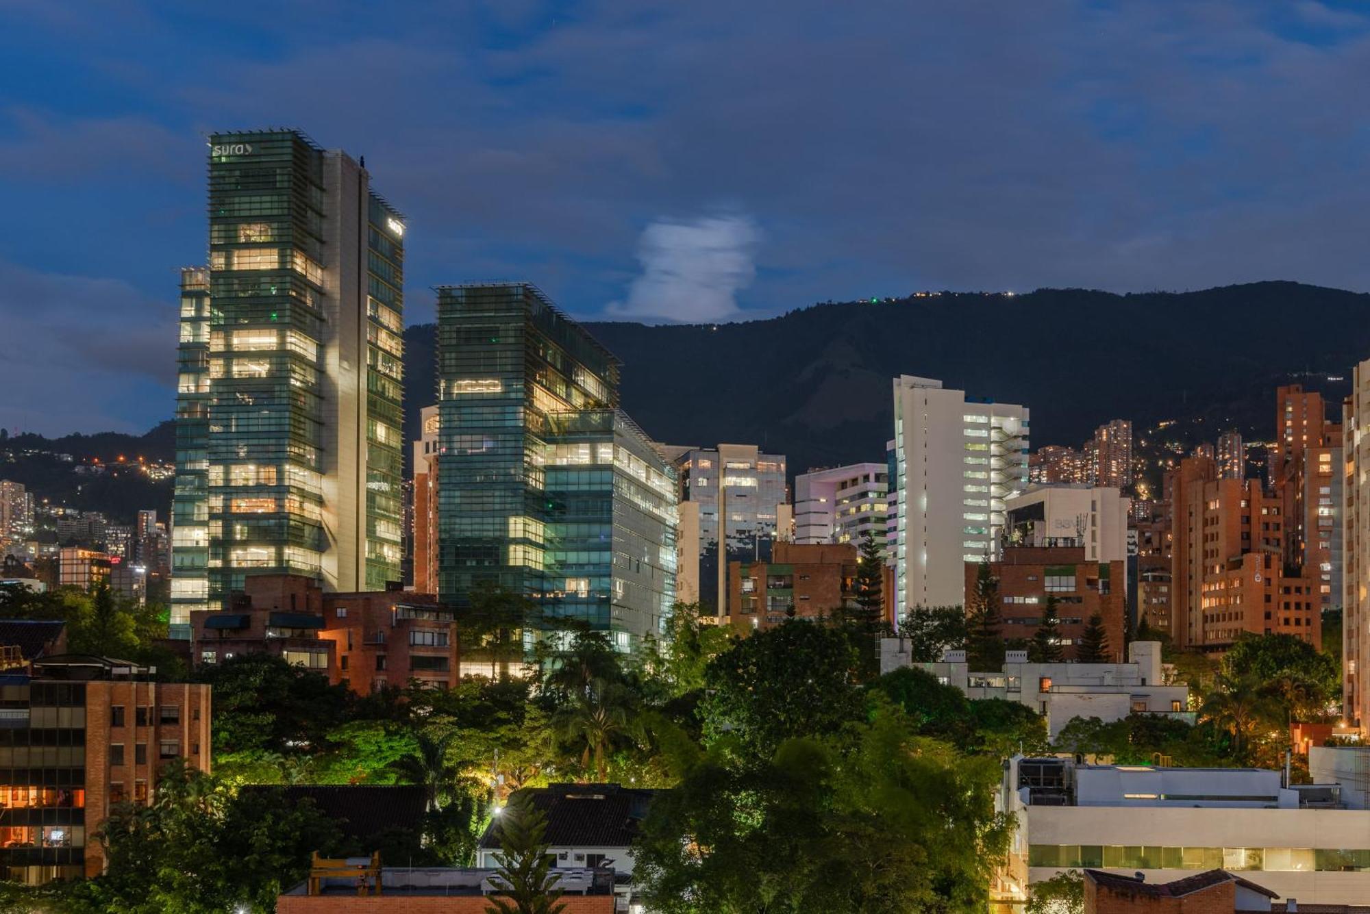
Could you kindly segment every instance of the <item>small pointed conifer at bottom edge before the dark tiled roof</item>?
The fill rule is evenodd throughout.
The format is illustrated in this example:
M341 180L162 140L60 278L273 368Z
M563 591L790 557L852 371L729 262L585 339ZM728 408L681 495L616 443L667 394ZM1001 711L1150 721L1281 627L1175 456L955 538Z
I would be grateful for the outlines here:
M514 794L500 810L497 833L500 852L495 881L499 891L485 906L486 914L560 914L560 877L553 874L548 855L547 817L533 806L529 794ZM506 900L507 899L507 900Z

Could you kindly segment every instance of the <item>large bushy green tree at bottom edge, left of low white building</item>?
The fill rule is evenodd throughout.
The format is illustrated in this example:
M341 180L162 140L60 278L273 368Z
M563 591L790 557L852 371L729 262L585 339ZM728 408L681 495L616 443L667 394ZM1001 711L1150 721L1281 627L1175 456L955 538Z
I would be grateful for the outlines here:
M649 907L985 910L1010 835L993 811L999 761L912 736L888 703L852 727L849 740L785 740L760 765L711 755L658 795L634 848Z

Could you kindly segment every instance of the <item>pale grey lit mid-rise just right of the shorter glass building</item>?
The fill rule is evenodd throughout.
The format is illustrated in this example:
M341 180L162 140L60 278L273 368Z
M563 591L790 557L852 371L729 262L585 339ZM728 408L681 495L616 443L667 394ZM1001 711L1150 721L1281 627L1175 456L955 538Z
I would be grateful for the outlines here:
M771 546L789 536L785 457L756 445L671 446L666 453L680 473L681 501L697 505L699 602L727 616L727 564L767 561Z

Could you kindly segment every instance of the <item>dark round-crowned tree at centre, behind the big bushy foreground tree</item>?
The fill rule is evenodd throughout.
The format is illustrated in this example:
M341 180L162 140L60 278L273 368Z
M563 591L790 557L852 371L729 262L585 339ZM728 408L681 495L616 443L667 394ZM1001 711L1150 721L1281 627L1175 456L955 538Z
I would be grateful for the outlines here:
M704 677L706 742L726 739L748 757L766 759L792 736L836 732L860 709L852 661L843 631L804 620L785 620L736 642Z

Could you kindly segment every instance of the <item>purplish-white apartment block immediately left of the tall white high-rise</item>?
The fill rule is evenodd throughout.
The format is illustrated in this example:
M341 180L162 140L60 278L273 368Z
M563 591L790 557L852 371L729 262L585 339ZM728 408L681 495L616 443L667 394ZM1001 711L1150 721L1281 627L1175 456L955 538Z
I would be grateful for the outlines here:
M860 543L869 532L884 547L886 472L885 464L851 464L797 476L795 542Z

